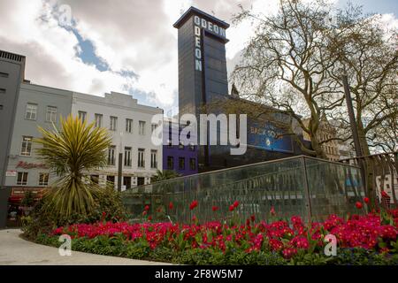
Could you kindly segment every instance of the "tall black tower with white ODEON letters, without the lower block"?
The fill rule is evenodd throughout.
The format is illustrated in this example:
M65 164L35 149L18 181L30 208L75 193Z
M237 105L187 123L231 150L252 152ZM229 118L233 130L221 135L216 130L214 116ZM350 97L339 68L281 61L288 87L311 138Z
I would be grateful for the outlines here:
M173 25L178 28L179 113L199 114L203 105L218 96L228 96L226 73L226 28L229 25L208 13L190 7ZM199 170L210 166L212 146L199 146ZM224 148L224 147L223 147ZM220 149L217 147L217 149ZM216 147L214 147L216 150Z

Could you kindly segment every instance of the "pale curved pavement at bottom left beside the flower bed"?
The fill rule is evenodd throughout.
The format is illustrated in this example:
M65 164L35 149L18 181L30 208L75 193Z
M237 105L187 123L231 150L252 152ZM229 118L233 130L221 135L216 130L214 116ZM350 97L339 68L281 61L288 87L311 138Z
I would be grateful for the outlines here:
M19 237L20 233L19 229L0 230L0 265L165 265L79 251L72 251L71 256L60 256L57 248L26 241Z

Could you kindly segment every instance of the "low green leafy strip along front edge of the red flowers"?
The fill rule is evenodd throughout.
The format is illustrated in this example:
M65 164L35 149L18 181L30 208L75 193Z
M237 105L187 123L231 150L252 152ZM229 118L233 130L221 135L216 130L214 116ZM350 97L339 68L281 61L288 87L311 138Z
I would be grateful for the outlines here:
M59 247L57 236L49 237L40 233L36 242ZM321 253L309 254L299 251L287 260L278 253L270 251L252 251L231 249L223 252L218 249L184 249L157 247L150 249L147 241L128 241L123 234L101 235L94 239L87 237L73 238L72 249L97 255L123 256L134 259L170 262L174 264L202 265L397 265L398 254L380 254L366 249L338 249L337 256L325 256Z

